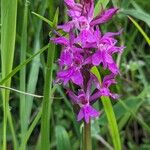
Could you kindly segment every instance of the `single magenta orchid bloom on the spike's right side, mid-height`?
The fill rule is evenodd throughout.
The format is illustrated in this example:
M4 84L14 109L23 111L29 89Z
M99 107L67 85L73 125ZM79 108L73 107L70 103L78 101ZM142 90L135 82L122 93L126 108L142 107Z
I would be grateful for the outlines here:
M102 63L104 69L108 69L114 73L118 74L119 69L112 58L112 54L121 53L124 47L115 46L117 41L114 39L115 35L119 35L121 32L117 33L106 33L101 36L99 29L95 31L96 45L93 46L97 51L92 55L92 64L98 66Z

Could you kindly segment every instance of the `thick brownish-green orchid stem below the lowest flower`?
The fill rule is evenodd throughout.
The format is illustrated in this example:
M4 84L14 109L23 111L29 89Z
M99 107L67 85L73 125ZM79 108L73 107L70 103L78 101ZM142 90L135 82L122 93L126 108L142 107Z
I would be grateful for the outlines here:
M92 150L91 123L90 122L88 124L84 122L83 150Z

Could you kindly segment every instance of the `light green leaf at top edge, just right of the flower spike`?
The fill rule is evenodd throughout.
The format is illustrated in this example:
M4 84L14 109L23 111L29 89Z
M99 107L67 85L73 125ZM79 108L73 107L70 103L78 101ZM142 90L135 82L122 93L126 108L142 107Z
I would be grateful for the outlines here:
M102 8L105 9L108 3L109 0L99 0L95 5L94 16L97 16L101 12Z

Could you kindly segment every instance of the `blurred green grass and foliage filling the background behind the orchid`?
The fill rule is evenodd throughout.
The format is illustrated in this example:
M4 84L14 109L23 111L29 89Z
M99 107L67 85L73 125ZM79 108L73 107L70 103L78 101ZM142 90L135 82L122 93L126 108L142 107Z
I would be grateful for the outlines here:
M128 16L131 16L150 38L150 0L95 0L95 4L99 8L96 11L100 11L102 8L101 5L103 4L106 8L114 6L120 9L112 21L101 26L101 30L105 33L107 31L118 31L123 28L123 34L118 37L120 41L118 44L125 45L126 48L122 55L116 56L121 75L117 77L117 86L112 87L112 90L121 95L121 99L118 101L112 100L112 104L121 135L122 149L149 150L150 46ZM1 4L0 7L2 6ZM47 49L49 47L47 44L49 43L50 36L53 36L53 32L51 32L52 28L49 24L43 22L32 12L53 21L58 7L58 23L62 24L68 20L63 0L18 0L13 63L11 63L9 57L7 60L7 56L5 56L5 59L8 64L11 63L9 65L13 65L13 69L23 62L24 64L20 65L17 70L13 70L12 74L8 76L7 79L12 76L11 88L26 93L44 95ZM1 20L2 15L1 13ZM12 28L12 24L9 24L9 26ZM2 36L1 28L0 33ZM10 41L7 42L9 43ZM51 53L52 50L53 48L50 47L49 51ZM61 47L56 46L54 62L51 67L53 69L53 81L58 70L57 58L59 57L60 50ZM36 53L40 54L35 57L34 54ZM4 57L3 55L4 53L2 53L1 47L1 61ZM25 61L27 59L28 61ZM4 76L2 75L2 63L0 69L0 90L4 91L2 88L2 85L5 85L5 81L3 80ZM98 69L104 75L100 67ZM49 117L48 121L50 122L49 145L51 149L78 150L81 147L82 141L82 122L78 123L76 121L76 115L73 112L66 91L60 85L51 83L51 86L50 103L52 107L50 116L47 115ZM41 148L42 102L42 98L19 94L10 90L9 107L7 109L11 112L12 121L7 121L7 149L15 149L14 137L17 140L17 150L20 146L20 149L27 150ZM92 121L93 150L113 149L107 117L104 113L102 102L98 101L94 105L102 110L103 113L99 119ZM3 115L1 94L0 149L3 141ZM11 128L12 124L14 130Z

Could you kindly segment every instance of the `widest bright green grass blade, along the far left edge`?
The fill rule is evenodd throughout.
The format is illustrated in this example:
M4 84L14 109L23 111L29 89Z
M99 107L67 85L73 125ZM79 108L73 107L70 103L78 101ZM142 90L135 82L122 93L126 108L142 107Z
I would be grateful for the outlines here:
M1 0L1 60L2 78L11 72L14 59L15 36L16 36L17 0ZM11 27L10 27L11 25ZM9 60L9 61L8 61ZM10 86L11 78L4 84ZM7 90L2 90L3 99L3 150L7 149L6 129L7 114L9 110L9 94ZM11 115L9 116L11 121Z

